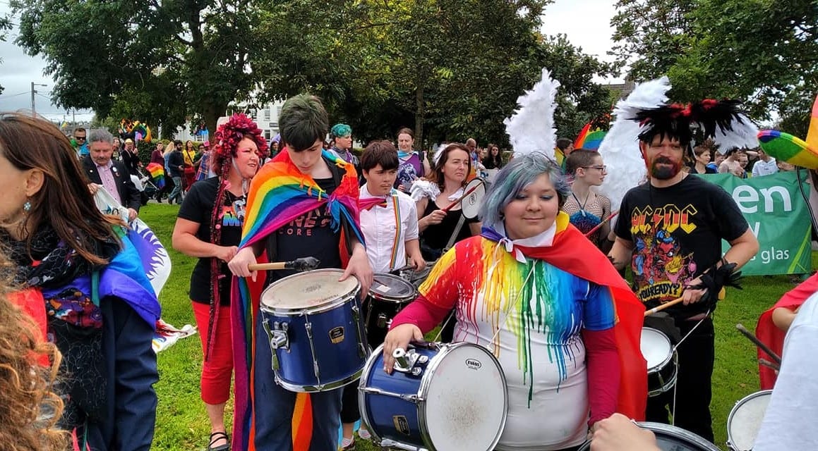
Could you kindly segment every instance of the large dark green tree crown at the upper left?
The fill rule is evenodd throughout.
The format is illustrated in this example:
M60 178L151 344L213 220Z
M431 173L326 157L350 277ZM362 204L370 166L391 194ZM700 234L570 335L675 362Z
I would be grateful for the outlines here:
M168 128L199 113L212 129L227 104L249 95L247 67L258 17L237 0L15 0L16 42L43 55L64 107L102 117L124 96L147 96ZM180 112L182 114L180 114ZM139 118L140 120L145 120ZM157 123L158 126L160 123Z

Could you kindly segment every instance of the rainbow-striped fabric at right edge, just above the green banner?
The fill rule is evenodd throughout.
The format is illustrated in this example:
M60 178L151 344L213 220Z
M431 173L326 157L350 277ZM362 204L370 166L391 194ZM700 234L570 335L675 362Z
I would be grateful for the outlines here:
M812 104L807 140L778 130L758 132L758 142L771 157L795 166L818 169L818 96Z

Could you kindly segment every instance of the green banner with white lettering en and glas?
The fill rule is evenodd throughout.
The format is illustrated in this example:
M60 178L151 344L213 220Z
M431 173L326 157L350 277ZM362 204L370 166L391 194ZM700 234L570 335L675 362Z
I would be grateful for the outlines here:
M796 172L740 179L730 174L702 176L721 186L738 204L759 249L742 272L744 275L804 274L811 272L811 219L807 200ZM802 181L807 174L802 174ZM722 252L730 245L721 243Z

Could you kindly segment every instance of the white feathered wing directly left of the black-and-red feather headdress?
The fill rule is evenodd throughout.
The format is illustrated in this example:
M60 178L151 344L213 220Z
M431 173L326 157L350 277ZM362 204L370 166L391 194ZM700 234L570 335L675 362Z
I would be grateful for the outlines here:
M600 193L611 199L611 210L614 212L619 209L627 190L645 181L647 176L639 151L640 125L632 118L642 109L664 105L670 88L667 77L640 83L627 99L619 100L613 109L616 120L600 144L600 155L608 167Z

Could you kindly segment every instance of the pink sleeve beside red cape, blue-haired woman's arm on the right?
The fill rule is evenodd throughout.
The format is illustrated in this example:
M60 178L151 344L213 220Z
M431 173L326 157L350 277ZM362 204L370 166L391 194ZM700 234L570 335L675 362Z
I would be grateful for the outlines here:
M621 368L613 328L582 329L582 341L587 355L588 399L591 403L588 426L593 426L616 412Z

